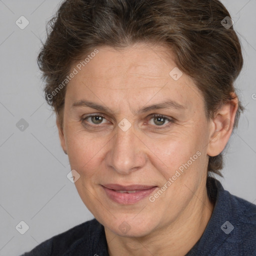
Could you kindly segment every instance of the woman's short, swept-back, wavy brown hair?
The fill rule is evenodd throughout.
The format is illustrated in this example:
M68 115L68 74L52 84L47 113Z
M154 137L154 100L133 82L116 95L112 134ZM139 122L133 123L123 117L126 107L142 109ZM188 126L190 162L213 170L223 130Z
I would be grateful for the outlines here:
M52 92L75 61L102 45L119 48L148 42L169 48L177 67L202 92L206 116L212 118L230 100L243 64L233 27L221 24L226 16L230 15L218 0L65 0L48 22L37 58L45 99L62 125L65 86ZM234 127L242 110L239 102ZM222 176L221 168L222 154L209 156L208 173Z

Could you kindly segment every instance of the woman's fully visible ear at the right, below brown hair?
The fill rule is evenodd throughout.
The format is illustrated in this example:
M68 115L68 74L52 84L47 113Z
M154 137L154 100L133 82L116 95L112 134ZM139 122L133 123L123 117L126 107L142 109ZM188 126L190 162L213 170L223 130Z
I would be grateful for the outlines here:
M235 114L238 108L238 98L234 92L230 94L232 99L221 106L211 119L211 130L207 145L207 154L216 156L224 149L233 129Z

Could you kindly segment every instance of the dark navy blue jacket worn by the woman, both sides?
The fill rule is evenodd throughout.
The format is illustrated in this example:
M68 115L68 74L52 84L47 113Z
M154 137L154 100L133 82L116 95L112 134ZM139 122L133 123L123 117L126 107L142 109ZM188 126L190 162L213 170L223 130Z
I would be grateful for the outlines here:
M256 255L256 205L207 178L215 206L200 239L185 256ZM108 256L104 227L94 218L55 235L21 256Z

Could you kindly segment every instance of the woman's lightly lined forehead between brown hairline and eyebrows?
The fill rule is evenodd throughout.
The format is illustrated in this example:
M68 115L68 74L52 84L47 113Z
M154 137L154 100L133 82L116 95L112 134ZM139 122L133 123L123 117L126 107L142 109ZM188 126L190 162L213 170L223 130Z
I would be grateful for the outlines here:
M191 105L196 97L202 100L193 81L177 69L171 52L162 45L138 43L122 49L103 46L97 50L86 64L77 62L71 67L78 71L67 86L73 100L93 98L94 102L109 101L112 106L121 100L129 101L129 105L168 99ZM182 74L179 79L170 75L173 69Z

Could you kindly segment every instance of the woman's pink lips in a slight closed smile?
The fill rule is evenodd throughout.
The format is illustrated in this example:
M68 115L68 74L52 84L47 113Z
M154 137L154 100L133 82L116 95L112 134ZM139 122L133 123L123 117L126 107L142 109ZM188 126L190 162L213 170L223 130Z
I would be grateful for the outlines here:
M157 186L152 185L119 185L119 184L104 184L101 185L106 195L113 201L120 204L133 204L147 197ZM119 190L134 191L133 193L121 193Z

